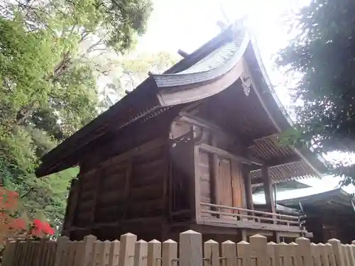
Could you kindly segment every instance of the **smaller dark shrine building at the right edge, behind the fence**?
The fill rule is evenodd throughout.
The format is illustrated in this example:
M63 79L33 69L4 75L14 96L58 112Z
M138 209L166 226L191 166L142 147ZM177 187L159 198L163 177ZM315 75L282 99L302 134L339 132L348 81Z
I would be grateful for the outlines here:
M326 243L331 238L351 243L355 239L354 196L343 189L283 199L278 204L302 209L305 228L312 232L314 243Z

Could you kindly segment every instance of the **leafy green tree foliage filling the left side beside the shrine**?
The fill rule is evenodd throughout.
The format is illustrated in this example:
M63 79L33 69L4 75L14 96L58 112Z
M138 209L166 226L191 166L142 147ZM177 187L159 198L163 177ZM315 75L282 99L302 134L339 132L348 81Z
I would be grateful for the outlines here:
M0 182L31 218L60 228L77 170L37 179L35 167L97 116L97 79L134 45L150 11L145 0L0 1Z

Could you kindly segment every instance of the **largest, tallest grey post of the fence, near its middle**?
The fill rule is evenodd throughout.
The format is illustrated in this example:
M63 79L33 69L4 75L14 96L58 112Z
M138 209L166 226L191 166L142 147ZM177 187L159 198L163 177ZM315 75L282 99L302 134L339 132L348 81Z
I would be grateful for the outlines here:
M180 233L181 266L202 266L202 235L189 230Z

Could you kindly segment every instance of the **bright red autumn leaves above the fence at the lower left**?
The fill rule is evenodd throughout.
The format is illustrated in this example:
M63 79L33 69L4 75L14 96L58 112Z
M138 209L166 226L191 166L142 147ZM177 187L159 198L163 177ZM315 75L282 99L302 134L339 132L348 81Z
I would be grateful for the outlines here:
M43 238L53 235L54 230L46 221L38 219L28 223L18 218L18 194L0 187L0 241L16 237Z

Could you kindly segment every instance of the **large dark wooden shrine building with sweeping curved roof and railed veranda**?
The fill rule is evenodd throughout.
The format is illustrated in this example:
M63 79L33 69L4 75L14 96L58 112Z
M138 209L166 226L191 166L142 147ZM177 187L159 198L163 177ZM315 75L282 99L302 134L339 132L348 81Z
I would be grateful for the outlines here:
M187 229L216 240L306 233L277 215L272 184L317 176L310 150L280 146L290 119L269 86L247 32L229 26L148 79L42 159L38 177L79 165L63 234L135 233L177 239ZM268 211L254 210L262 184Z

